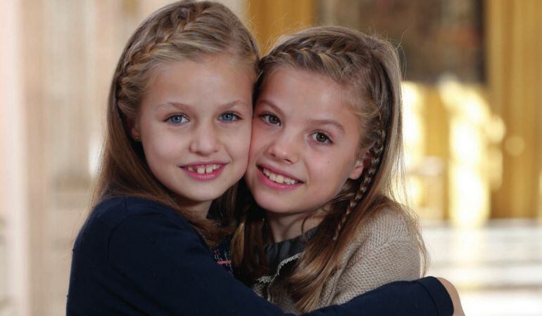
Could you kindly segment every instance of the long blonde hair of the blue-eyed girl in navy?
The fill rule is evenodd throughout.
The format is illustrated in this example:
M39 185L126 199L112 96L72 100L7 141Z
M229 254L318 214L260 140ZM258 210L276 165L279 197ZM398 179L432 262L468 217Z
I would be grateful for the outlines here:
M107 107L107 130L93 206L106 197L152 199L181 213L210 244L224 231L212 220L199 219L175 202L175 193L150 171L141 143L132 140L130 127L137 117L151 71L181 60L200 60L229 54L254 78L258 73L258 47L248 29L222 4L178 1L160 8L141 22L128 40L113 74ZM211 209L227 213L236 187L225 192Z

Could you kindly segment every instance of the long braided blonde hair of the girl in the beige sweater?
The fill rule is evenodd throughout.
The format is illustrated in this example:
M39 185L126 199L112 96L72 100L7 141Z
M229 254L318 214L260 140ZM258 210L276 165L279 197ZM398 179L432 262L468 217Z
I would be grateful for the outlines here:
M257 88L279 67L308 70L346 88L360 118L360 157L365 153L362 176L348 180L327 204L315 237L285 277L298 310L308 312L317 308L325 282L338 268L358 228L380 209L404 214L417 237L423 263L427 251L415 215L396 202L393 185L393 176L403 169L401 70L396 49L353 29L313 27L284 37L262 58ZM244 209L232 244L236 271L248 283L268 272L261 237L263 216L261 209Z

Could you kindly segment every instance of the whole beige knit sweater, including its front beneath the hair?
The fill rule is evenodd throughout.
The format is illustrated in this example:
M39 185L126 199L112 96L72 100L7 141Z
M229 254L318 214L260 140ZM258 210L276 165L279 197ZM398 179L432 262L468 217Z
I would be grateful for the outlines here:
M253 287L258 295L279 305L284 312L300 313L281 282L280 270L301 255L284 259L275 275L260 277ZM346 303L389 282L419 279L420 270L415 232L401 213L382 209L360 228L347 247L339 270L324 286L318 308Z

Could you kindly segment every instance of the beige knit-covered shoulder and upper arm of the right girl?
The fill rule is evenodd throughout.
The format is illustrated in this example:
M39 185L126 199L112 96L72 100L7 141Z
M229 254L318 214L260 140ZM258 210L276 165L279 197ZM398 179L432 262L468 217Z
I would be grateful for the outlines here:
M420 277L420 248L413 218L401 209L379 209L352 237L333 279L329 303Z

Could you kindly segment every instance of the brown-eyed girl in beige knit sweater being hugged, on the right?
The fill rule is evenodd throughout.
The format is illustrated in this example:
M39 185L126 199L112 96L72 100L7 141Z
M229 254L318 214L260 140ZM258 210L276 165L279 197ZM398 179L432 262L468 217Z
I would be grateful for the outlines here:
M285 37L260 62L234 271L287 312L419 278L426 251L396 202L401 71L386 41L344 27ZM241 195L242 196L242 191Z

